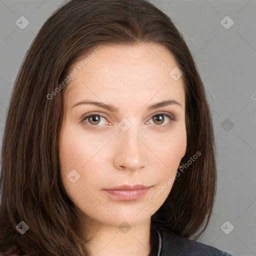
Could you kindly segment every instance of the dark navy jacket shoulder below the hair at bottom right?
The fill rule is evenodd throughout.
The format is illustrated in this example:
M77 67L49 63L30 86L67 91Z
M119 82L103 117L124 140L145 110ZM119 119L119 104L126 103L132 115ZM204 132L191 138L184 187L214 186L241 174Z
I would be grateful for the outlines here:
M164 227L157 227L161 236L160 256L232 256L213 246L176 235Z

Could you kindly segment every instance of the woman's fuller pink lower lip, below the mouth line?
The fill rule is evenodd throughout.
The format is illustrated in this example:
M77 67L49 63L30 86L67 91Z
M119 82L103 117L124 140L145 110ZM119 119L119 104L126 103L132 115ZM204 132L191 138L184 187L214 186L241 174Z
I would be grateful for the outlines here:
M148 190L149 190L149 187L144 189L126 189L126 190L104 189L104 191L106 191L108 195L119 200L135 200L145 195L148 192Z

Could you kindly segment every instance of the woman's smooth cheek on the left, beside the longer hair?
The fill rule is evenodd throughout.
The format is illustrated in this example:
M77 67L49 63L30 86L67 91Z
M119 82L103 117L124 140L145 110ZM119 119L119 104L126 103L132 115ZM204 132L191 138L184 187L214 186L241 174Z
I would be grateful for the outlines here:
M89 191L101 187L102 180L107 178L102 168L104 163L101 155L107 140L107 136L95 139L95 134L81 132L81 129L68 123L60 133L61 180L67 194L76 204L85 198L89 204L95 203ZM72 178L70 180L73 176L74 182Z

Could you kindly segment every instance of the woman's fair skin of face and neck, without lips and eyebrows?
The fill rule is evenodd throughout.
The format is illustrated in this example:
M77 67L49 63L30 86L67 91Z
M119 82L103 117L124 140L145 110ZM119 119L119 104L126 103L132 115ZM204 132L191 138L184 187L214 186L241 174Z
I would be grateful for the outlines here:
M91 255L146 256L150 251L150 217L170 192L172 183L166 182L176 174L186 150L183 81L169 75L177 64L162 45L115 45L98 50L65 91L61 179L84 219L81 228L84 238L91 238L86 241ZM119 111L92 104L73 106L85 99L111 104ZM169 99L181 106L146 110ZM96 116L98 120L81 122L82 117L95 112L106 118ZM165 115L157 119L156 114L162 112L172 113L176 120ZM118 126L123 118L131 124L126 131ZM93 125L98 128L89 129ZM80 175L74 183L67 178L72 169ZM129 201L114 199L102 190L122 184L151 187L146 195ZM164 184L165 191L161 189ZM149 196L159 189L162 193L150 201ZM118 228L123 221L131 227L125 233Z

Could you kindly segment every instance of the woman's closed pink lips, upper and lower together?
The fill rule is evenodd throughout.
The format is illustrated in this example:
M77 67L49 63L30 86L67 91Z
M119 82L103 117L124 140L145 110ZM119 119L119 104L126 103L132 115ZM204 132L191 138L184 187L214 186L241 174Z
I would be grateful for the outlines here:
M120 185L111 188L103 189L111 198L118 200L135 200L144 196L151 186L145 186L141 184L135 185Z

